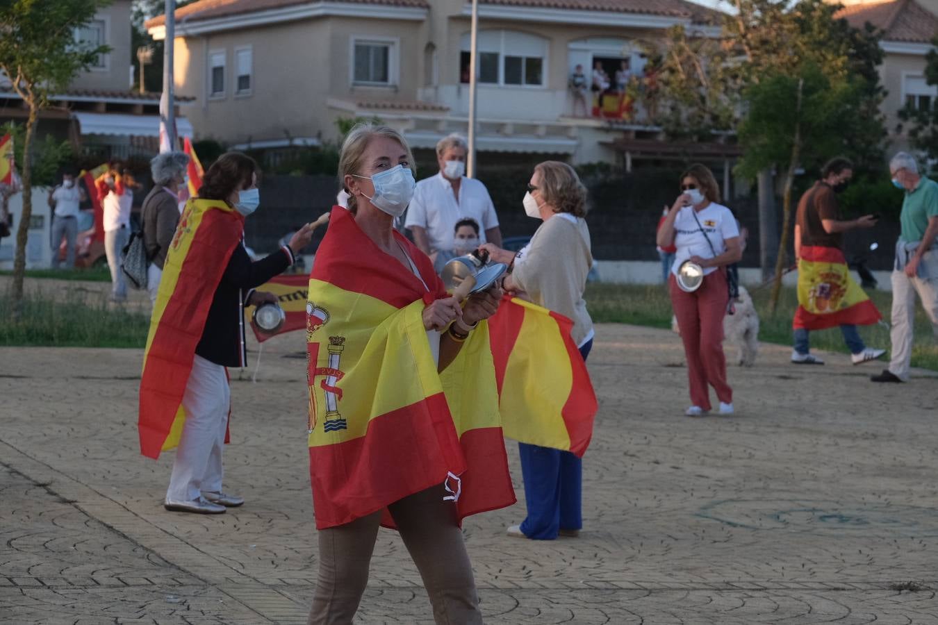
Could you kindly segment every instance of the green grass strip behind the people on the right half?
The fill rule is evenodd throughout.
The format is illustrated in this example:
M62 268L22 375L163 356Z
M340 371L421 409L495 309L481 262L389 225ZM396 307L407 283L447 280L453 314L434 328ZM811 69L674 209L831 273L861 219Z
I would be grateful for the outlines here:
M798 305L794 289L781 290L779 308L774 316L768 313L771 290L760 289L752 293L759 312L759 340L779 345L792 344L792 318ZM889 320L892 295L881 290L868 293L885 320ZM632 323L655 328L671 327L671 298L663 286L619 285L590 283L584 295L590 316L604 323ZM870 347L889 349L889 331L883 325L862 326L860 335ZM847 353L840 330L833 328L811 333L811 349ZM938 371L938 345L931 332L931 324L921 305L915 304L915 342L912 365Z

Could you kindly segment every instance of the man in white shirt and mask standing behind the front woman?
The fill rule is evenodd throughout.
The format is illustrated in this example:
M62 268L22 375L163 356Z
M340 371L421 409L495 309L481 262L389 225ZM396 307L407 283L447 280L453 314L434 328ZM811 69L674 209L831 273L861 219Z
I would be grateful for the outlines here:
M466 142L460 135L444 137L436 144L440 172L416 184L404 227L414 243L430 256L453 247L453 230L460 219L472 218L482 227L479 243L502 245L502 231L489 191L474 178L466 178Z

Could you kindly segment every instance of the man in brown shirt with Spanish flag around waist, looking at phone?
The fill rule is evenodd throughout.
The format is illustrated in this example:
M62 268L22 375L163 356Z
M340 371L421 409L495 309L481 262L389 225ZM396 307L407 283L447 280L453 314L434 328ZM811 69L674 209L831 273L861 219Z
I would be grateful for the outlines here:
M824 365L810 353L809 333L840 326L854 365L876 360L885 350L868 348L856 331L857 325L870 325L882 317L876 306L853 278L843 256L843 232L872 228L877 217L867 215L842 219L837 194L854 175L849 159L838 156L821 170L814 183L798 201L794 219L794 258L798 262L798 307L794 311L794 365Z

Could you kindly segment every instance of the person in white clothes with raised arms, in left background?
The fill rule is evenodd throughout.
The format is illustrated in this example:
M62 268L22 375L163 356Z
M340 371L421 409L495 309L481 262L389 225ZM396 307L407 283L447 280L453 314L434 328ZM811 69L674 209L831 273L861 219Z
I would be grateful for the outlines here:
M127 282L120 265L124 246L130 239L130 208L133 190L126 184L123 171L112 168L98 178L98 197L104 213L104 253L111 269L111 301L127 300Z

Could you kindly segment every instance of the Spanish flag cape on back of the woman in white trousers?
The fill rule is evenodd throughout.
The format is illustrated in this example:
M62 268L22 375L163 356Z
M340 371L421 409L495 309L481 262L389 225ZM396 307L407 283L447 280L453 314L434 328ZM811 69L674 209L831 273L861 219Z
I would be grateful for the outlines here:
M137 422L141 454L157 458L179 443L186 422L182 397L211 293L243 232L244 217L224 201L194 198L179 219L146 338Z

